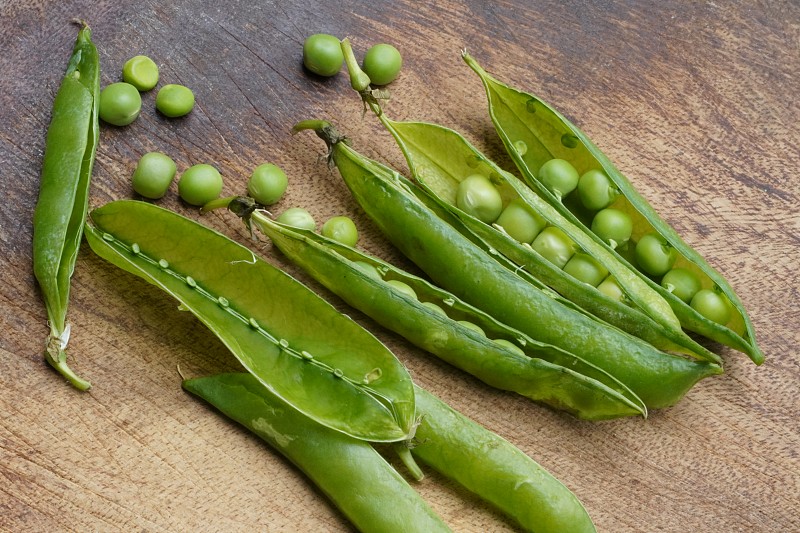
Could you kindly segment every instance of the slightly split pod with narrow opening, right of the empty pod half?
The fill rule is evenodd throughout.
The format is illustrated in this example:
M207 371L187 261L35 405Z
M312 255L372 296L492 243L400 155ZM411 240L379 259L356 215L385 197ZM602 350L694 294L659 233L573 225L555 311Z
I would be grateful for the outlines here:
M647 413L635 394L603 370L501 324L417 276L317 233L273 221L262 211L253 213L250 222L345 302L489 385L584 419ZM392 288L390 280L405 283L417 297Z

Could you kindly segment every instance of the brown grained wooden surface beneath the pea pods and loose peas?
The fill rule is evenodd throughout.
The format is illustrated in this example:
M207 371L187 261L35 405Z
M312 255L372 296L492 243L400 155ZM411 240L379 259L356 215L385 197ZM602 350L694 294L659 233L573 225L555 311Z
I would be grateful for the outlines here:
M131 198L131 172L147 151L170 154L180 170L216 165L226 194L243 192L250 170L271 161L290 177L278 210L303 206L318 221L349 215L366 250L406 267L320 162L322 143L289 134L298 120L328 118L365 154L405 169L376 121L362 120L344 73L320 80L303 72L304 37L350 36L359 55L395 44L405 67L388 112L456 128L495 156L501 145L460 48L555 105L737 289L767 356L762 367L723 349L727 373L674 408L648 420L578 422L490 389L310 285L375 332L421 385L560 478L600 531L800 531L796 2L0 6L0 530L350 527L298 471L181 391L178 365L188 375L237 368L222 344L85 245L72 285L70 354L94 388L79 393L45 364L31 218L50 106L76 35L69 20L83 17L102 85L143 53L161 66L162 84L185 84L197 96L189 117L167 120L148 93L133 125L103 127L92 206ZM177 201L176 184L161 205L201 218ZM202 220L247 242L227 214ZM256 247L283 263L267 244ZM419 490L457 531L513 529L434 473Z

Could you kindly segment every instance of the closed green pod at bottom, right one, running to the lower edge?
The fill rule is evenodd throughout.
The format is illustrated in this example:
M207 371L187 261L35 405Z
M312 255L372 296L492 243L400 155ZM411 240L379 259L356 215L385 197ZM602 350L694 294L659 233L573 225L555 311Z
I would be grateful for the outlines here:
M502 437L416 387L421 422L417 459L513 518L525 531L595 531L580 500Z

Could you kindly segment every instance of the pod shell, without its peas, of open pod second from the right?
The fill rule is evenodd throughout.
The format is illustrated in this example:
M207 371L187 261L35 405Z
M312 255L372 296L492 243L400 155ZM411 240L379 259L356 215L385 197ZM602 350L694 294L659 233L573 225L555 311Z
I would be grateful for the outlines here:
M562 217L550 205L531 194L525 184L491 162L457 132L435 124L392 121L385 114L380 115L380 120L396 139L417 182L442 208L462 221L462 228L474 233L488 246L506 256L514 263L514 268L525 268L534 277L589 313L660 350L721 362L719 356L686 335L677 322L658 320L653 318L653 312L645 312L642 306L648 305L645 302L650 302L657 304L650 306L651 309L661 308L663 311L665 307L672 315L666 301L631 273L625 264L584 235L579 227ZM591 285L579 281L545 259L530 245L521 244L496 225L489 225L459 209L456 205L459 184L475 173L490 177L492 185L504 198L505 206L512 201L525 202L543 220L569 237L583 237L583 240L576 239L576 242L605 266L630 301L639 305L630 306L603 295Z

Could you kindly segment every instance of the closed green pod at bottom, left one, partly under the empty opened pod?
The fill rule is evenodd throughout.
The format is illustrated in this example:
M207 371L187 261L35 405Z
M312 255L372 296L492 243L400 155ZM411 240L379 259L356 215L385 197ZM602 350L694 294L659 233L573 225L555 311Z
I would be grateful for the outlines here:
M369 443L303 416L251 374L189 379L183 388L291 461L359 531L450 531Z

